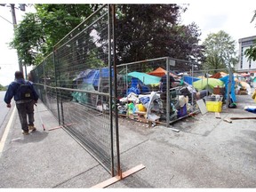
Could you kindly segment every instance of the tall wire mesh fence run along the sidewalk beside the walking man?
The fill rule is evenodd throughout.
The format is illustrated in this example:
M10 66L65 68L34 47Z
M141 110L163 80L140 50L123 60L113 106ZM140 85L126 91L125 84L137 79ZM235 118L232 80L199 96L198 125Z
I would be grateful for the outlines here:
M115 103L115 6L103 5L31 71L40 99L111 175L120 174Z

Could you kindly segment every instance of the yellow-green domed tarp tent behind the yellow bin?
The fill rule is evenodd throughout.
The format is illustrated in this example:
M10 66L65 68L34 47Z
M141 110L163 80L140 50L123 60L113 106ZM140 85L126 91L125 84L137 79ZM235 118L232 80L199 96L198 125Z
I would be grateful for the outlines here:
M220 81L219 79L215 79L215 78L205 78L205 79L200 79L196 82L193 82L193 86L198 90L198 91L202 91L204 89L207 88L207 84L209 86L210 89L213 90L213 87L215 86L223 86L224 82Z

